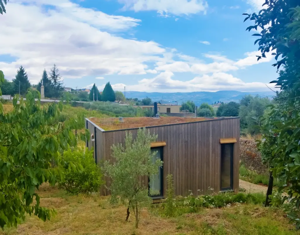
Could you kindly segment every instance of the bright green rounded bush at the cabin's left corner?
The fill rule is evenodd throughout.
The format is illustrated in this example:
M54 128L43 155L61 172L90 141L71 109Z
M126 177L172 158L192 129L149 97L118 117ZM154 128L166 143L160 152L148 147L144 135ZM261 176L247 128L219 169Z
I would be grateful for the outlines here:
M80 171L74 168L65 171L64 179L58 181L58 187L74 195L98 192L103 180L93 154L93 150L84 150L78 147L64 151L61 158L65 162L65 166L68 166L69 162L76 162L82 167L80 167Z

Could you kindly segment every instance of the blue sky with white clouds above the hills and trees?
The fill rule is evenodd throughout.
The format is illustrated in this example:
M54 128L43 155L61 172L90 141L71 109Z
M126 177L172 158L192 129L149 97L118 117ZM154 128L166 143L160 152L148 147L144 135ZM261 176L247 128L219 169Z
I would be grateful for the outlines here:
M0 69L32 84L56 64L65 87L146 92L270 91L274 56L257 61L253 22L265 0L10 0ZM268 87L266 86L268 85Z

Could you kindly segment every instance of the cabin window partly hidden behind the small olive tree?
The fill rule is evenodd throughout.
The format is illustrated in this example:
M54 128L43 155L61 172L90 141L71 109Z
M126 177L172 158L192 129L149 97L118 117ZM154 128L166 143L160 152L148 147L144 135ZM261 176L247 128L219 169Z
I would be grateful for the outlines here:
M155 163L157 159L163 161L163 147L151 148L151 153L157 152L153 158L152 162ZM158 169L158 173L149 177L149 194L152 197L162 197L164 189L164 171L163 166Z

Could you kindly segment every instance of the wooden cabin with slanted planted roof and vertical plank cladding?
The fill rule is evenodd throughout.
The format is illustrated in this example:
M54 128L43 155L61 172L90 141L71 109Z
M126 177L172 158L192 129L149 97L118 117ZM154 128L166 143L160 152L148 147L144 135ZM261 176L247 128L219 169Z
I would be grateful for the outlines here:
M192 192L197 196L231 190L237 193L239 125L238 117L132 117L123 118L122 122L119 118L86 118L86 128L93 134L86 146L94 147L97 164L113 161L111 146L124 145L126 132L131 132L134 139L137 130L146 127L158 135L152 150L164 162L158 175L150 180L141 177L160 191L155 199L166 195L168 174L173 175L175 195ZM110 179L104 177L104 180L109 187ZM101 195L109 195L109 191L102 187Z

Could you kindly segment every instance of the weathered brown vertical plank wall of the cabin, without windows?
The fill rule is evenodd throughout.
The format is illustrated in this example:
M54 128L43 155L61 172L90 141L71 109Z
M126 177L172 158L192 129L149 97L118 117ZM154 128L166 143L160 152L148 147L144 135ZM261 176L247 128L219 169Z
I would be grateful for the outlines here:
M95 125L95 124L92 124ZM89 124L88 124L89 126ZM238 192L239 168L239 118L202 121L197 123L183 123L147 128L150 133L158 135L157 141L166 141L164 147L164 195L167 190L168 174L173 174L175 195L210 194L220 191L220 138L236 138L233 154L233 189ZM101 132L98 138L97 129L97 162L110 160L113 144L125 145L126 132L131 132L133 139L138 129L116 130ZM110 186L110 179L104 177L106 186ZM140 181L148 183L147 177L140 177ZM102 195L109 192L101 189Z

